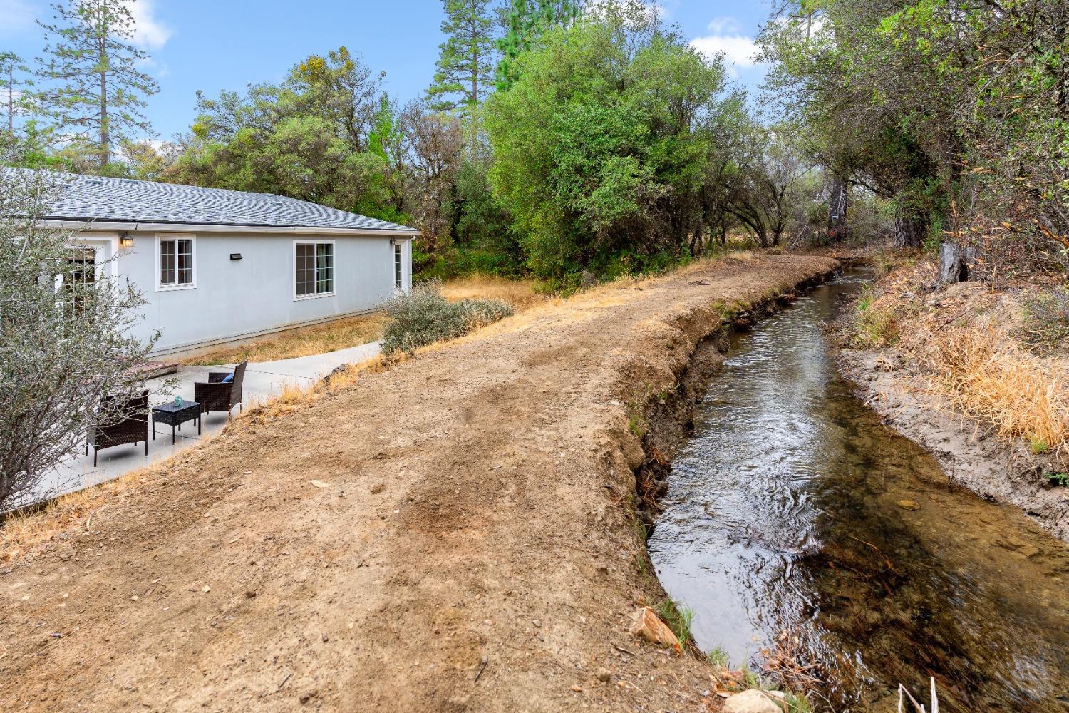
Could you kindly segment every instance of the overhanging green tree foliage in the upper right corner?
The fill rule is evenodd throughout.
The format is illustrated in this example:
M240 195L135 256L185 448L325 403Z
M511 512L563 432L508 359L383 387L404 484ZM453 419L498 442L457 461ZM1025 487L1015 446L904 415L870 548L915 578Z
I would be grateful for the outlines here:
M894 201L899 246L1069 265L1069 2L779 5L769 89L827 170Z

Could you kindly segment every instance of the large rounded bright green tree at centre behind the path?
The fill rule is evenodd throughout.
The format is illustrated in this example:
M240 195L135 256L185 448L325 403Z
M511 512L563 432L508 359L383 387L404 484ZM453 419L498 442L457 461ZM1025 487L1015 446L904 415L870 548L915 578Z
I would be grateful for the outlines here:
M490 181L542 277L645 269L709 224L724 68L631 4L546 30L487 100Z

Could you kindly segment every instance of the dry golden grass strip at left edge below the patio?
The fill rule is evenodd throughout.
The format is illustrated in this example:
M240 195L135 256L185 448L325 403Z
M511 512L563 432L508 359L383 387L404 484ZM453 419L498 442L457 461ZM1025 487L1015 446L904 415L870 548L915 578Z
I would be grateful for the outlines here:
M0 526L0 562L19 558L76 525L84 523L88 528L97 508L140 484L148 472L149 468L135 470L122 478L60 496L42 508L9 514Z

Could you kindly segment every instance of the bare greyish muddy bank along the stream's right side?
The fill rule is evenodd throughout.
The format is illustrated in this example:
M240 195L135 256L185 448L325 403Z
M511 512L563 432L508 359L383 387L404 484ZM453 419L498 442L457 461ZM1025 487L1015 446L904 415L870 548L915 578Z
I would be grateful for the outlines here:
M1047 459L1010 444L990 427L939 407L924 383L898 368L895 350L840 354L843 373L884 422L920 444L950 479L989 500L1021 508L1056 538L1069 541L1069 491L1043 477Z

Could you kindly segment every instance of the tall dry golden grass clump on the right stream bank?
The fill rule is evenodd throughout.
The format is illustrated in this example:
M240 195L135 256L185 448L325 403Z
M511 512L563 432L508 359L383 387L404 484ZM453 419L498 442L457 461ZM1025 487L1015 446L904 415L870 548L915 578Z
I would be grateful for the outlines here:
M1069 384L1064 371L1018 347L993 327L930 335L919 355L932 392L958 413L1024 438L1069 450Z

